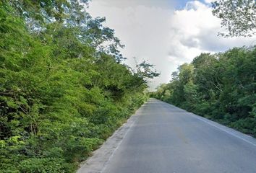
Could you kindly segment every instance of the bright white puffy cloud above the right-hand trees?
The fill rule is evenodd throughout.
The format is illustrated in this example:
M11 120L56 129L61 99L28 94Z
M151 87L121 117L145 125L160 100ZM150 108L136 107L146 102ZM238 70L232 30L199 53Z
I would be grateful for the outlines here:
M210 1L208 1L210 2ZM175 66L192 61L200 53L216 53L229 48L252 45L256 37L220 37L221 20L210 7L200 1L189 1L184 9L176 10L171 20L169 61Z

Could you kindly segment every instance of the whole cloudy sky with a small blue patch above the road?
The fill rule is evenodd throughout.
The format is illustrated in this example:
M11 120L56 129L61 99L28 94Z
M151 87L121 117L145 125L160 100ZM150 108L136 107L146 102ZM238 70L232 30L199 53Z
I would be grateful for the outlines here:
M161 76L150 82L152 90L200 53L256 44L256 37L217 36L223 28L211 13L210 1L92 0L88 11L93 17L106 17L105 25L125 45L125 63L135 66L136 57L137 62L155 64Z

